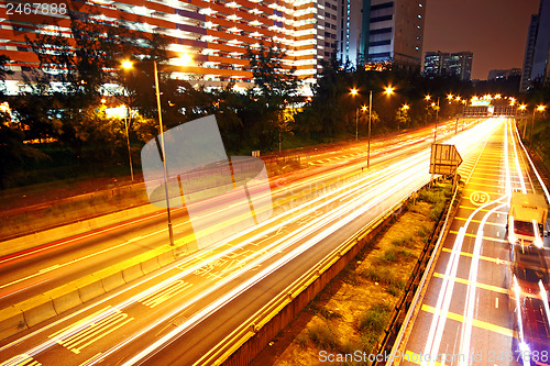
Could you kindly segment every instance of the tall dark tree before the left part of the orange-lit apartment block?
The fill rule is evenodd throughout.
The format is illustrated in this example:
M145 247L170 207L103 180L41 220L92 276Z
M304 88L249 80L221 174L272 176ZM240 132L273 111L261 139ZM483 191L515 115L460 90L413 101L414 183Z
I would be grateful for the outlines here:
M33 40L25 36L40 62L40 69L33 68L26 78L35 95L55 95L64 108L82 108L99 103L106 93L103 86L113 81L111 70L134 46L119 29L98 23L92 14L69 15L72 37L61 31L36 34ZM63 88L52 89L53 81Z

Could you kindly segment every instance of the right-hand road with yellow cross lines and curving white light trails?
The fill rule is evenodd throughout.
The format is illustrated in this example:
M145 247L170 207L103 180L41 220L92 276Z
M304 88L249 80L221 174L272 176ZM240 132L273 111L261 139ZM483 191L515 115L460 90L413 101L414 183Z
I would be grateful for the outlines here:
M549 199L512 121L502 121L486 137L480 158L463 178L458 213L394 365L548 365L541 350L538 356L530 354L536 350L519 352L514 324L520 314L508 299L510 193L536 192ZM544 241L542 253L549 263L550 245ZM549 285L543 284L547 293ZM546 347L548 355L550 339ZM536 357L527 361L529 355Z

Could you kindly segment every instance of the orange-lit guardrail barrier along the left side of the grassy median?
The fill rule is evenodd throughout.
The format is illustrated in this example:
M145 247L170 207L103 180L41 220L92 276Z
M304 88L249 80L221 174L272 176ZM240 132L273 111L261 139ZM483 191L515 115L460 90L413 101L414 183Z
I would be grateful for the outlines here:
M417 187L411 195L422 187ZM373 222L334 248L204 355L197 364L241 366L252 362L265 345L359 254L363 246L376 236L396 213L400 213L410 196L381 213Z

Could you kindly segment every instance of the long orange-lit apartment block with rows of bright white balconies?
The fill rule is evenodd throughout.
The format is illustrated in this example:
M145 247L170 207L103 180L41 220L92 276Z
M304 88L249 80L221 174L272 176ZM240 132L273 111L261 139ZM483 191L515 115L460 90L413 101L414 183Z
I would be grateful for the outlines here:
M177 58L190 56L188 66L175 67L173 77L207 87L237 82L249 87L252 74L244 57L246 49L260 42L272 42L287 55L285 65L296 66L305 84L314 84L320 60L333 52L337 41L337 16L340 0L95 0L77 9L78 16L90 22L129 30L129 36L161 33L169 37L168 52ZM75 2L76 3L76 2ZM0 7L0 13L7 8ZM21 71L38 67L36 56L25 43L25 34L51 33L57 30L70 36L67 14L37 16L15 13L0 15L0 47L12 63L15 74L8 80L16 92ZM44 25L44 20L50 25ZM55 30L55 32L57 32ZM306 91L307 92L307 91Z

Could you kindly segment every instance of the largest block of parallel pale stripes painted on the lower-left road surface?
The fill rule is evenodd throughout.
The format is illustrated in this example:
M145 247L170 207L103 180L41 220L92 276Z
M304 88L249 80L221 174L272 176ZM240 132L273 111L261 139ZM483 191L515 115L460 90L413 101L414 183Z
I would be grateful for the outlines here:
M106 335L114 332L134 319L128 318L127 313L117 310L103 319L86 324L82 329L78 329L81 323L90 318L92 318L92 315L82 319L76 324L69 325L50 335L48 337L53 337L55 342L68 348L70 352L79 354L85 347L101 340Z

